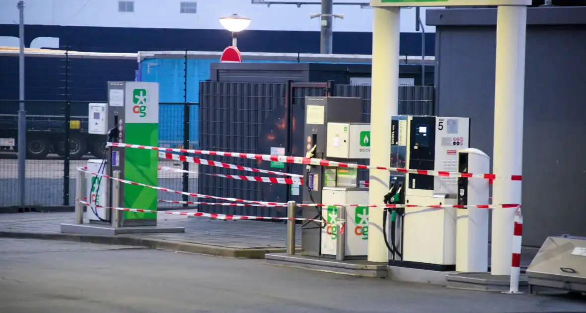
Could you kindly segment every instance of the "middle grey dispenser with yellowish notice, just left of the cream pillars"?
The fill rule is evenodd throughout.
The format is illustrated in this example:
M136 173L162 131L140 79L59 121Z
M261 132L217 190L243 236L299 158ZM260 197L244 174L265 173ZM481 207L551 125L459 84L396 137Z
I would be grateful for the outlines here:
M349 158L357 158L360 155L356 155L356 151L349 151L347 147L350 145L350 130L353 130L352 134L358 131L360 135L359 129L364 131L364 127L367 127L367 124L361 124L361 122L362 99L360 98L305 97L306 157L344 162ZM336 124L329 126L331 123ZM370 151L369 147L361 149ZM329 149L332 151L328 152ZM360 200L360 197L367 198L367 189L357 188L357 172L352 169L307 165L305 170L303 203L341 204L339 202L344 200L354 202ZM345 195L346 199L337 198L340 195ZM322 207L303 207L302 209L302 217L330 222L338 218L338 213L341 212L338 212L336 207L323 209ZM339 232L338 227L332 225L328 227L317 222L302 224L301 254L305 256L336 254L336 250L332 250L331 241L336 240ZM329 238L329 245L322 246L322 239L326 238Z

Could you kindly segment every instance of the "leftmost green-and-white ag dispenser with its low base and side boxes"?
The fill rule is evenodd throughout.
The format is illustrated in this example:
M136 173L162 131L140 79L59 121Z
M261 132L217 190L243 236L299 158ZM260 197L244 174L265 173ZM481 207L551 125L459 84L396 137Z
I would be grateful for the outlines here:
M109 142L154 146L159 140L159 86L146 82L108 82L108 103L90 104L89 127L92 134L107 134ZM154 150L108 147L107 159L88 161L88 202L83 225L81 213L76 224L62 224L64 233L117 234L141 232L183 232L182 227L156 226L157 213L111 210L107 207L157 210L157 190L128 185L114 178L158 185L158 154ZM79 183L79 182L78 182ZM83 190L79 188L80 190ZM79 195L78 195L79 196ZM82 212L76 206L76 212ZM92 226L91 224L98 223ZM142 227L126 227L142 226Z

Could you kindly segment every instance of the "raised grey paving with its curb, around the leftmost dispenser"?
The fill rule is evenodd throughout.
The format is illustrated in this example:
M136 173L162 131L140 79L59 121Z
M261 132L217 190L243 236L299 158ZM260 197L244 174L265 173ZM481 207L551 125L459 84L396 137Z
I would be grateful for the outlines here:
M122 244L244 258L264 258L266 253L285 252L287 242L287 224L282 222L159 215L158 226L185 227L185 233L117 236L60 233L62 223L73 221L74 213L70 212L0 215L0 237ZM301 230L297 233L301 234ZM301 245L301 236L297 236L297 244Z

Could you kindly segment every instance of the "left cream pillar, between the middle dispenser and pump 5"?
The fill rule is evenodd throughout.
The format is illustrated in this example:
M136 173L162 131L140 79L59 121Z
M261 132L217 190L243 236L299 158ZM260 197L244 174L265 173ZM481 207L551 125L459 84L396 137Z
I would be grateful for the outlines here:
M397 115L399 77L399 8L373 8L372 96L370 101L370 165L390 166L391 115ZM369 203L383 203L389 171L370 170ZM388 262L383 209L370 208L368 260Z

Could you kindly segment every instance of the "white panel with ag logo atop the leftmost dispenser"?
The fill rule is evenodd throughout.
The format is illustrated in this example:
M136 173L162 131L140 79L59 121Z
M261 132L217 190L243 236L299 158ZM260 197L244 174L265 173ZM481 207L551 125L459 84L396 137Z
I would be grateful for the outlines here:
M126 83L126 123L158 123L158 91L152 83L141 81Z

